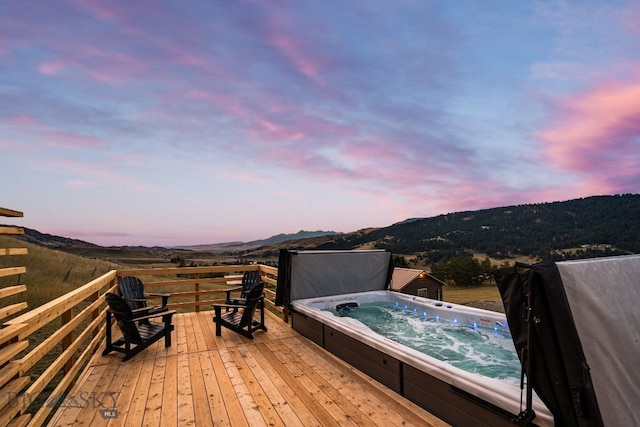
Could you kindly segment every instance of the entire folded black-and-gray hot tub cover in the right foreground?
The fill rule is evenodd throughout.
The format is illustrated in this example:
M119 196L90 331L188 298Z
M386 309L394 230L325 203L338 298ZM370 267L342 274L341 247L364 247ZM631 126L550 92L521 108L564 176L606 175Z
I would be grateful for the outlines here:
M640 256L500 270L496 281L519 355L556 425L640 425ZM532 292L531 313L527 294ZM526 360L521 363L526 369Z

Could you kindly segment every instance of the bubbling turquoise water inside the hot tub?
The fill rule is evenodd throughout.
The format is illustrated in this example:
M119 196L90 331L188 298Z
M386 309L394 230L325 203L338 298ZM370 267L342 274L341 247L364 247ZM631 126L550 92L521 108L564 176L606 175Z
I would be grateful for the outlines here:
M357 319L379 335L467 372L520 380L520 362L508 332L443 321L393 303L363 303L329 311Z

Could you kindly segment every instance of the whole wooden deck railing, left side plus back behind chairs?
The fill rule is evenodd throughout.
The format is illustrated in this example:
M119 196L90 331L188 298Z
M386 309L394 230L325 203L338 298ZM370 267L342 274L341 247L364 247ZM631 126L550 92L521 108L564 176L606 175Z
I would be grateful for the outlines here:
M0 389L0 425L41 426L56 404L64 404L65 393L104 339L104 294L117 292L121 277L136 275L143 279L145 290L169 293L173 309L200 311L210 310L210 304L222 299L222 293L229 288L228 282L233 279L229 276L241 275L246 270L261 271L267 285L266 304L282 313L287 321L286 311L273 303L277 269L233 265L112 270L4 322L0 336L4 333L11 338L5 340L8 344L0 349L0 362L4 365L0 369L0 381L7 379L3 384L15 382L16 385ZM29 338L33 341L31 346L27 345ZM12 350L6 350L9 348Z

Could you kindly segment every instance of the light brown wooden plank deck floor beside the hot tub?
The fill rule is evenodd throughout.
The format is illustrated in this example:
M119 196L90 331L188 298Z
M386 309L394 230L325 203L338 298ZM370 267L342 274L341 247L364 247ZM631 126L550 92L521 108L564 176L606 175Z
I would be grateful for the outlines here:
M212 312L174 316L173 345L93 357L51 426L446 426L275 315L249 340ZM117 328L116 328L117 329Z

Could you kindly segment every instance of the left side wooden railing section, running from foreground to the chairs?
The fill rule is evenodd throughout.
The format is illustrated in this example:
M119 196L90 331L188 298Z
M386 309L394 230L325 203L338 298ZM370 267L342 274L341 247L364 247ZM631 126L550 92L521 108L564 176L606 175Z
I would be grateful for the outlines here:
M16 417L13 422L20 422L17 425L40 426L63 401L65 392L104 339L104 294L115 289L115 278L116 272L110 271L4 323L5 328L22 326L20 341L32 336L40 341L42 333L48 336L3 368L12 368L19 377L26 376L28 387L18 394L0 396L8 401L0 425L7 425ZM59 326L53 325L58 319ZM44 368L34 369L42 363Z

